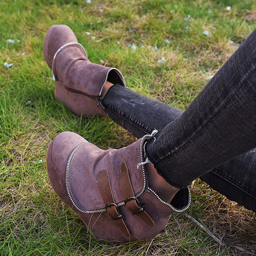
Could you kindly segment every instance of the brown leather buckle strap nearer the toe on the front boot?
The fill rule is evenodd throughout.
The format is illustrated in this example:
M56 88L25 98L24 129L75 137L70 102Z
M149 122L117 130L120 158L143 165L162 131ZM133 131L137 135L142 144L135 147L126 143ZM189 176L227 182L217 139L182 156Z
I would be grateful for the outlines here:
M125 221L122 218L121 213L119 212L118 206L115 203L113 192L111 189L110 177L107 170L99 171L97 174L97 183L99 191L102 195L102 199L105 203L105 209L108 212L108 215L116 225L125 234L125 236L131 236L128 228L125 225Z

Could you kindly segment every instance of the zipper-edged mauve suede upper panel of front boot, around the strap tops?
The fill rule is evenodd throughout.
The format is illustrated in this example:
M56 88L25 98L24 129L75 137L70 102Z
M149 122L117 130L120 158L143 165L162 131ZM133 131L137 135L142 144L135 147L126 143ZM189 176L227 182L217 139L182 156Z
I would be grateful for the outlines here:
M131 148L131 149L130 149ZM127 151L130 154L127 155ZM74 203L82 210L104 209L105 203L97 185L97 174L101 170L108 170L113 196L118 204L124 201L120 186L120 165L126 161L131 170L130 177L133 180L134 193L143 190L143 172L140 163L140 144L129 145L119 150L102 150L91 143L83 144L74 154L70 163L68 184Z

